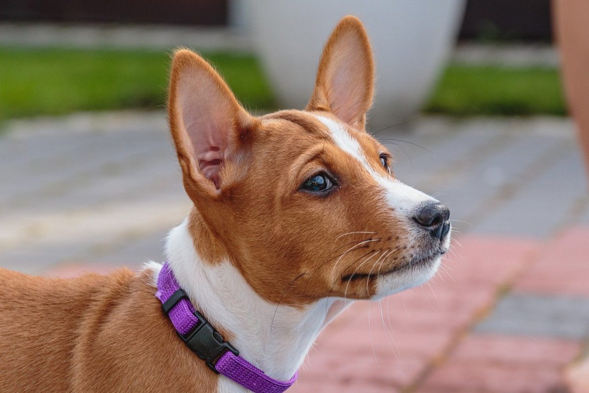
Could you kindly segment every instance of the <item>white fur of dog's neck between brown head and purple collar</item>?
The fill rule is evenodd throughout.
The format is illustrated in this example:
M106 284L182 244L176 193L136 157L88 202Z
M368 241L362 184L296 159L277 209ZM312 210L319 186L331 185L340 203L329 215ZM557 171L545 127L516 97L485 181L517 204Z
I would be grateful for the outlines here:
M207 263L196 252L188 219L171 230L168 263L198 311L221 331L244 359L270 377L286 381L302 364L320 331L351 302L327 298L300 308L262 299L229 260ZM157 272L156 272L157 273ZM240 391L225 378L226 388Z

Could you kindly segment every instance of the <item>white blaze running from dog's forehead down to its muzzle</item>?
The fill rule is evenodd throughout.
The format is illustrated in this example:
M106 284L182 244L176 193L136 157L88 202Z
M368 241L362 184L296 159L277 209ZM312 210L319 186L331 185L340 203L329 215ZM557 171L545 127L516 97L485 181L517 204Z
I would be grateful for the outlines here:
M368 159L360 147L360 143L346 130L346 127L329 117L322 115L315 115L323 125L330 131L330 137L335 142L337 147L348 153L353 158L359 161L366 171L373 177L376 183L385 189L385 198L389 206L398 210L401 213L412 214L417 207L423 202L437 202L431 196L422 193L419 190L409 187L397 179L385 176L378 173L368 163Z

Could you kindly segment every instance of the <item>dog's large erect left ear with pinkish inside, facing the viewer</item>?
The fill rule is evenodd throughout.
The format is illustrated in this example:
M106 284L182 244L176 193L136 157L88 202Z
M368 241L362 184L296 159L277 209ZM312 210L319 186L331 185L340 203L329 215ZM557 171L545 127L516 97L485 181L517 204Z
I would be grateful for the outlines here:
M188 196L195 204L217 196L226 180L223 169L244 158L255 118L213 67L187 49L174 55L168 117Z

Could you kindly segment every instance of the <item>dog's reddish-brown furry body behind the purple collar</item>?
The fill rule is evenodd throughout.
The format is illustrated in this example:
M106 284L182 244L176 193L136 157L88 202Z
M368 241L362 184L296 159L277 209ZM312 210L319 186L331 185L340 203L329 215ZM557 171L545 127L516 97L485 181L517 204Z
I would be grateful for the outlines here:
M167 381L214 391L162 318L148 271L51 279L0 269L0 305L1 392L163 391Z

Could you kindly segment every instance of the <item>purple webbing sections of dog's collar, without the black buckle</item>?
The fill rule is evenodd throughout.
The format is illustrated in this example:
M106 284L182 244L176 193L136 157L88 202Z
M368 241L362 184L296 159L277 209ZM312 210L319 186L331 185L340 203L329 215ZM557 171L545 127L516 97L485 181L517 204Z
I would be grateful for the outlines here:
M180 289L180 285L178 285L174 273L168 263L164 263L157 279L155 296L160 299L161 303L165 303L178 289ZM194 315L194 306L188 299L181 299L170 310L168 317L176 331L182 335L186 335L198 323L198 318ZM278 381L231 351L225 352L219 358L215 369L254 393L282 393L294 384L299 374L296 372L289 381Z

